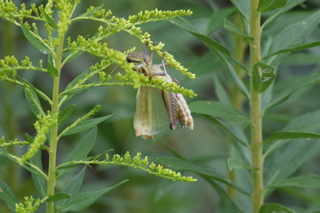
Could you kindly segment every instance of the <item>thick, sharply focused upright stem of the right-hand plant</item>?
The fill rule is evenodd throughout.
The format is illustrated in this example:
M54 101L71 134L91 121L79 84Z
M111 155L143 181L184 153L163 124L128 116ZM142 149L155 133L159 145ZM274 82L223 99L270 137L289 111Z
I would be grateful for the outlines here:
M252 165L259 167L253 170L253 212L258 213L263 204L263 156L262 156L262 126L261 126L261 95L253 88L252 67L261 60L260 58L260 13L257 12L259 0L251 0L250 34L254 37L253 45L250 45L250 88L251 88L251 146Z

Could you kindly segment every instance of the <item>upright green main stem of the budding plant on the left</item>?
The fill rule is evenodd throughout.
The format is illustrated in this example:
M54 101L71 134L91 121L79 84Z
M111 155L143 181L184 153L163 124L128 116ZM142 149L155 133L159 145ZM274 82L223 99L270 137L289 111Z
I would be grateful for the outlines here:
M58 112L59 104L59 80L60 80L60 70L61 70L61 58L62 58L62 47L63 39L60 38L57 58L56 58L56 68L59 72L58 77L53 77L53 93L52 93L52 105L51 113L52 115ZM56 151L57 151L57 135L58 135L58 125L51 128L51 138L50 138L50 152L49 152L49 171L48 171L48 191L47 196L54 194L54 186L56 184ZM47 202L47 213L53 213L53 202Z

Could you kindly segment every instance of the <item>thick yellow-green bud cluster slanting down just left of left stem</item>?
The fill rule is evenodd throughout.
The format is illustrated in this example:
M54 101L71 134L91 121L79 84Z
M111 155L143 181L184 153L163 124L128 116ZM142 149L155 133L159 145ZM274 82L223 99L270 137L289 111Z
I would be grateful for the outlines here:
M40 146L44 144L47 139L46 134L49 133L50 128L57 125L58 113L51 115L50 111L48 111L47 115L42 116L42 114L39 114L37 118L38 120L34 124L37 131L35 140L30 144L30 148L28 149L27 153L22 155L21 158L17 159L21 165L23 164L23 161L33 157L39 150Z

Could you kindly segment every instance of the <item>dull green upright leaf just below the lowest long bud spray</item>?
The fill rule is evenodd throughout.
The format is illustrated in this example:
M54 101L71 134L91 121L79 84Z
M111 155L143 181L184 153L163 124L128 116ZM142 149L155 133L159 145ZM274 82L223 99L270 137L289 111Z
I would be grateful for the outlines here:
M87 166L85 165L83 167L83 169L73 178L71 178L69 180L69 182L67 183L67 185L62 189L61 193L68 193L71 195L71 197L68 200L60 200L57 203L55 203L56 205L59 206L64 206L66 205L68 202L72 201L74 199L74 197L76 197L76 195L78 194L83 178L84 178L84 171L85 168Z

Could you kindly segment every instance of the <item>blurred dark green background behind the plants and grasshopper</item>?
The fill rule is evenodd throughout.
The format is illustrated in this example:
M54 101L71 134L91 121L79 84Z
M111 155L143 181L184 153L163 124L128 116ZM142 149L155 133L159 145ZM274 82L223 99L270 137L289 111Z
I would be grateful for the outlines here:
M21 3L25 3L27 9L33 3L36 5L45 4L45 1L40 0L15 0L13 2L18 8ZM221 20L224 17L221 19L215 12L221 8L231 7L232 4L228 0L83 0L78 5L75 15L84 13L91 5L97 7L101 4L104 4L104 9L111 10L116 17L124 17L125 19L141 10L154 10L155 8L163 11L190 9L193 11L193 15L184 18L201 33L207 32L210 37L229 49L232 49L234 45L231 38L234 35L226 32L222 27L223 22ZM263 40L267 40L268 37L277 34L288 24L306 17L319 7L320 2L318 0L308 0L305 4L293 8L277 19L272 26L265 29ZM268 13L263 15L267 17ZM56 17L57 14L55 13L53 18ZM231 15L230 19L233 18L234 16ZM37 23L37 26L39 33L44 35L44 29L42 28L40 31L40 23ZM97 33L99 26L100 23L90 20L75 22L70 26L67 36L70 36L72 41L76 40L77 35L93 36ZM186 98L187 103L198 100L217 100L213 85L213 73L218 74L227 90L232 87L232 82L219 60L193 35L167 21L150 22L139 27L141 27L143 33L151 34L150 39L153 42L165 43L164 49L174 55L181 65L196 74L196 79L190 80L175 69L167 67L168 73L178 79L183 87L193 89L198 94L193 99ZM43 59L44 67L46 67L47 55L42 54L28 43L19 27L1 21L0 28L1 58L13 54L18 61L21 61L25 56L28 56L34 66L37 66L39 60ZM208 31L208 28L211 28L211 30ZM12 34L8 35L8 32L12 32ZM305 40L306 42L319 41L320 28L318 27ZM112 35L103 42L108 43L109 48L120 51L126 51L132 47L136 47L136 51L143 51L145 48L145 45L137 38L125 32ZM100 62L100 60L84 53L66 64L61 71L60 90L63 90L76 76L89 69L96 62ZM153 63L160 64L161 61L155 57ZM319 64L319 47L288 56L278 68L278 76L274 87L275 96L283 93L284 88L294 85L310 73L319 72ZM115 65L111 65L105 72L109 74L114 67ZM117 68L113 75L116 72L124 73L120 68ZM51 96L53 82L51 76L37 71L19 71L18 73L36 88L49 97ZM286 123L298 115L318 110L320 103L319 89L319 85L302 89L292 95L285 103L265 115L264 136L267 137L272 132L281 130ZM60 128L72 124L74 120L83 116L96 104L100 104L101 110L96 117L106 116L113 112L115 114L98 125L97 140L90 156L100 154L108 149L115 149L111 152L112 155L120 154L123 156L126 151L129 151L132 156L137 152L141 152L142 157L172 156L157 140L161 139L195 164L210 167L221 174L227 175L228 144L226 141L228 140L228 134L212 125L201 115L192 114L195 124L193 131L178 126L174 131L167 128L157 134L155 140L144 140L141 137L136 137L133 129L136 93L137 90L131 86L123 86L91 88L90 91L75 95L65 105L66 107L76 104L75 110ZM16 87L16 85L0 81L0 137L4 135L6 140L14 140L15 138L24 140L24 133L32 136L36 134L33 127L36 118L29 109L24 96L23 87ZM48 104L44 102L42 104L44 110L50 110ZM248 115L248 104L246 102L243 106L243 113ZM248 130L248 128L246 129ZM87 130L72 136L62 137L58 143L57 164L62 163L77 143L82 141L89 132L90 130ZM26 151L26 147L15 147L15 150L11 149L10 151L19 156ZM47 168L48 155L45 152L42 152L42 154L43 166ZM320 174L319 160L318 153L310 155L309 160L296 173ZM20 201L22 201L23 196L33 195L38 198L40 195L33 186L30 173L17 165L8 165L10 165L10 162L1 157L0 179L12 186L13 192L16 193ZM81 168L82 166L77 167L60 179L57 182L56 191L59 192ZM196 183L172 182L131 168L93 165L92 169L89 167L86 169L80 193L113 186L124 179L130 181L105 194L92 207L83 212L216 212L220 198L212 186L194 173L186 171L181 173L185 176L193 176L198 181ZM308 190L306 192L311 194L319 193L318 190ZM310 199L309 201L308 199L307 201L306 199L299 200L283 190L275 191L268 202L280 202L295 209L306 208L312 203L320 204L320 198L312 198L312 201ZM43 212L44 207L45 205L37 212ZM1 210L0 212L2 213Z

